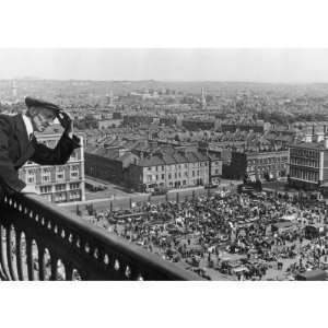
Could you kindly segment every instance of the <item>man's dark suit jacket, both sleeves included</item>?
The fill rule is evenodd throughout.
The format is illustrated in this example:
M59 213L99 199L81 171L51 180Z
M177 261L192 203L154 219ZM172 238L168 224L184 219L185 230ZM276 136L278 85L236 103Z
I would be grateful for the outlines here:
M62 134L55 149L31 141L22 115L0 115L0 185L10 194L20 192L26 185L19 179L17 169L28 160L40 165L65 164L80 140Z

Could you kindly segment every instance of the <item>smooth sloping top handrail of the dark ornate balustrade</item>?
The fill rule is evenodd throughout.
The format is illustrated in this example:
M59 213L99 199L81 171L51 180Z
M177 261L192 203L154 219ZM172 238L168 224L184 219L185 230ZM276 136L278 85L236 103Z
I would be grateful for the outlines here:
M61 226L69 227L70 231L75 232L77 235L83 237L87 236L91 239L97 241L97 244L104 245L106 249L122 254L126 257L133 258L133 261L140 262L151 270L163 273L167 280L202 280L198 274L179 268L178 266L161 259L155 254L142 249L140 246L132 244L119 236L109 234L98 226L81 219L77 214L69 213L63 208L60 208L38 195L14 195L8 196L13 201L33 204L32 208L39 209L39 213L50 213L56 218L56 223Z

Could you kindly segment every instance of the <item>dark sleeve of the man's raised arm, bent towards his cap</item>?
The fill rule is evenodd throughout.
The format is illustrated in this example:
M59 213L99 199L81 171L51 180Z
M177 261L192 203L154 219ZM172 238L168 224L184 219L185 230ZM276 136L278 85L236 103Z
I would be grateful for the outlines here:
M66 134L61 136L55 149L35 142L35 152L31 161L40 165L62 165L67 163L74 149L80 147L80 139L77 136L71 139Z

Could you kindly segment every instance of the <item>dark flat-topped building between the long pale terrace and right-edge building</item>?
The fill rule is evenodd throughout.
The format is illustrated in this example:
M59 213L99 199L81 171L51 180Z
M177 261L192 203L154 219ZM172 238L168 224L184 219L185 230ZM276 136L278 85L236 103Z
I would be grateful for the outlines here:
M230 165L223 166L223 176L243 179L269 179L285 176L289 151L232 152Z

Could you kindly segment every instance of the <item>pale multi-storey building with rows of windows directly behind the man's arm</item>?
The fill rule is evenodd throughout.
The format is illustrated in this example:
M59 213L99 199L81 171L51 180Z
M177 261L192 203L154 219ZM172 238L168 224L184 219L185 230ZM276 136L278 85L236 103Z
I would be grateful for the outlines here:
M61 134L36 134L38 142L55 148ZM81 148L75 149L63 165L38 165L28 161L19 171L20 178L26 185L35 185L39 195L52 202L85 200L84 190L84 140L79 134Z

